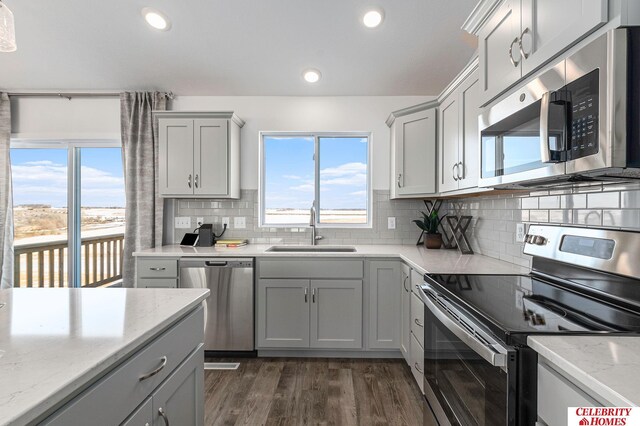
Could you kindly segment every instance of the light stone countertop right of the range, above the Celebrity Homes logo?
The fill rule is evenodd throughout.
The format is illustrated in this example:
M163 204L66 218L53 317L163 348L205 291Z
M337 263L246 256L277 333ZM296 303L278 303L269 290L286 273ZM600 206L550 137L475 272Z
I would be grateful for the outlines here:
M527 343L594 396L640 406L640 337L529 336Z

